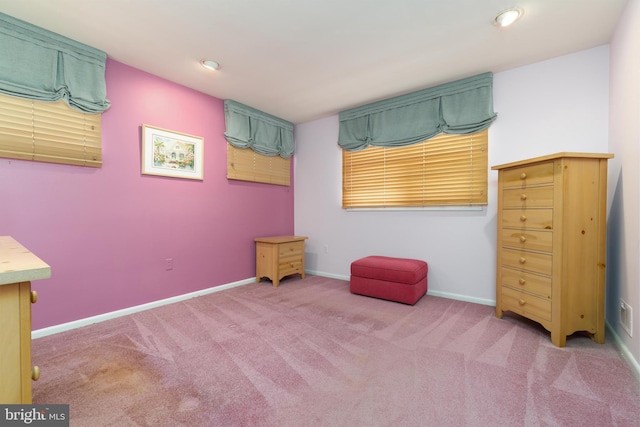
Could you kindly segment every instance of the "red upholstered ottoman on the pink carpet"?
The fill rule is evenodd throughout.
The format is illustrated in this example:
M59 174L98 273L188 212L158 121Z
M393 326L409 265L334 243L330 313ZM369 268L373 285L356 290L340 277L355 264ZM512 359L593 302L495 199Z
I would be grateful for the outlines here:
M368 256L351 263L352 294L414 305L427 293L424 261L408 258Z

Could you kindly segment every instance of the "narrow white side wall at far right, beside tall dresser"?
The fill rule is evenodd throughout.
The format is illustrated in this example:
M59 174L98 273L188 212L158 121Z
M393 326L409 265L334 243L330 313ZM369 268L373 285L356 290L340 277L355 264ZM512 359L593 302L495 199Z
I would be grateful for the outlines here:
M640 373L640 1L631 0L611 41L607 230L607 321ZM633 337L618 324L620 299L633 307Z

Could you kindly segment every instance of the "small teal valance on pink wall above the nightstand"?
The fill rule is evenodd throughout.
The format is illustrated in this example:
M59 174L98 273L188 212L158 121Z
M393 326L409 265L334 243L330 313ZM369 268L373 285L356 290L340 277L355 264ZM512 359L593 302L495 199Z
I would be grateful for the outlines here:
M236 148L288 159L294 151L293 123L227 99L224 136Z

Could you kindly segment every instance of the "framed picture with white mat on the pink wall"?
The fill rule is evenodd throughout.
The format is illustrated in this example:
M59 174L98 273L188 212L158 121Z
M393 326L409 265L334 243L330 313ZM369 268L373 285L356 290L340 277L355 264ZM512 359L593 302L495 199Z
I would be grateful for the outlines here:
M142 125L142 173L204 179L204 139Z

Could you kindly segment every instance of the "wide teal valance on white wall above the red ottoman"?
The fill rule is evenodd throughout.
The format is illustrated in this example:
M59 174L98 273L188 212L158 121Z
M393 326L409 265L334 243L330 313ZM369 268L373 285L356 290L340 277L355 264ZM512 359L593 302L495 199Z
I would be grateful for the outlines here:
M493 74L484 73L342 111L338 145L347 151L400 147L440 133L476 133L496 117Z

